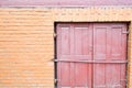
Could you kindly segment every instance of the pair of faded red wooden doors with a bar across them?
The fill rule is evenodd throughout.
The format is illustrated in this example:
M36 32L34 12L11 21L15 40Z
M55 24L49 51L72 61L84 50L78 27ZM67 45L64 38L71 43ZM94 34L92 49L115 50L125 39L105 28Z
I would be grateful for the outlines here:
M125 88L127 25L57 24L57 88Z

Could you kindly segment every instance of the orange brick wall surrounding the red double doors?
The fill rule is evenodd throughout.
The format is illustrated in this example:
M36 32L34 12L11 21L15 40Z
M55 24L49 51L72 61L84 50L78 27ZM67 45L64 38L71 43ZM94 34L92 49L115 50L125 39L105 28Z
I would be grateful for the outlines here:
M0 88L54 88L54 22L132 22L132 9L0 8ZM131 29L128 88L132 88Z

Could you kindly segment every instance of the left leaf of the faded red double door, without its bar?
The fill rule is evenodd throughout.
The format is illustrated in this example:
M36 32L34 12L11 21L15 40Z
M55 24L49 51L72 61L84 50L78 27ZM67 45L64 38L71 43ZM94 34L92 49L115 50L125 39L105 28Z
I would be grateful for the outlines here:
M70 62L92 59L91 36L92 26L87 23L57 25L57 59L69 61L57 63L57 88L91 88L91 64Z

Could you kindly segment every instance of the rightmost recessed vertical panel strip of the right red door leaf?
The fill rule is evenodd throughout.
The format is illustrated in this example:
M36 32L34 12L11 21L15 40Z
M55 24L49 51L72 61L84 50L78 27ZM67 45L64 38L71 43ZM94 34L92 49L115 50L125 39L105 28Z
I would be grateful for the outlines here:
M121 61L121 28L119 25L111 24L111 61ZM112 64L111 65L111 86L112 87L122 87L120 84L120 77L121 77L121 64Z

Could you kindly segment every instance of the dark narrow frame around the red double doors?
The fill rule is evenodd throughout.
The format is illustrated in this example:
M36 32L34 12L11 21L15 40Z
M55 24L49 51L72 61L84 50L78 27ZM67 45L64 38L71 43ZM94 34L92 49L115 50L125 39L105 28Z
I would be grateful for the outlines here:
M131 42L129 42L130 40L130 28L131 28L131 22L54 22L54 33L53 33L53 37L54 37L54 87L57 88L57 64L55 62L55 59L57 58L57 42L56 42L56 37L57 37L57 34L56 34L56 25L57 24L72 24L72 23L76 23L76 24L79 24L79 23L127 23L127 31L129 31L128 35L127 35L127 61L128 63L125 64L125 85L127 85L127 88L129 87L128 86L128 80L130 79L129 78L129 61L131 59L130 57L130 51L129 51L129 47L131 45Z

